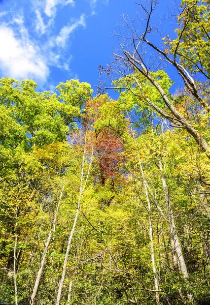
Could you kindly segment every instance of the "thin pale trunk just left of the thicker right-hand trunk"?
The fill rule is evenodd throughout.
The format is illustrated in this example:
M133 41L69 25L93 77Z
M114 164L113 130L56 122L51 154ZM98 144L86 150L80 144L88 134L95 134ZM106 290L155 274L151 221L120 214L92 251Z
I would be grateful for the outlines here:
M155 290L156 290L156 302L157 304L160 304L160 296L158 292L158 276L157 276L157 269L155 265L155 256L154 256L154 243L153 243L153 229L152 229L152 221L151 221L151 205L150 205L150 198L148 195L148 189L147 189L147 181L145 179L144 171L142 168L142 165L140 164L140 168L142 171L142 178L143 178L143 184L145 187L145 195L147 199L148 204L148 220L149 220L149 236L150 236L150 250L151 250L151 261L152 261L152 269L153 269L153 275L154 275L154 283L155 283Z

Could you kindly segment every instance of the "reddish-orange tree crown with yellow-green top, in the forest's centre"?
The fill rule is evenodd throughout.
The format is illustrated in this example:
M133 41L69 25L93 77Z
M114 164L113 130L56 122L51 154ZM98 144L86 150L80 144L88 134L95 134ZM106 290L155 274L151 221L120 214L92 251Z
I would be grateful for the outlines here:
M120 166L123 162L123 137L127 121L120 104L101 95L85 104L84 126L90 126L95 134L94 155L99 163L99 179L104 186L110 179L112 184L120 176ZM113 185L114 188L114 185Z

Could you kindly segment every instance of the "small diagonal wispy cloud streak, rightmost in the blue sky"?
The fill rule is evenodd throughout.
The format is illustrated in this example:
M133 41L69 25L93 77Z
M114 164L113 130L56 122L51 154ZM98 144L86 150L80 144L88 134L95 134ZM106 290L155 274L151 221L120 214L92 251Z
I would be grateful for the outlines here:
M85 22L85 14L82 14L80 19L77 20L75 23L71 25L64 26L61 28L59 35L55 38L57 46L64 47L66 44L67 39L69 38L69 35L73 33L73 31L78 27L78 26L86 26Z

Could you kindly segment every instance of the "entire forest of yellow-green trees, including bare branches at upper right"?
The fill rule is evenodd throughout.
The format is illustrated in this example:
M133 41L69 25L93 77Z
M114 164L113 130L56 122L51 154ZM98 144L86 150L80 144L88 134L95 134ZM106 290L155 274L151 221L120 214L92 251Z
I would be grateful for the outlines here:
M5 303L210 304L210 2L179 5L172 39L137 4L96 94L1 79Z

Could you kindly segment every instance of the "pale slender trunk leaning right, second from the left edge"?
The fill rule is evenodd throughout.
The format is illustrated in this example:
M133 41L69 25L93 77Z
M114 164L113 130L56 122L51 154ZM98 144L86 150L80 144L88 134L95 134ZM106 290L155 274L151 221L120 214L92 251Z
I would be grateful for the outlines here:
M56 211L55 211L55 215L54 215L54 220L53 220L53 223L51 224L51 229L50 229L50 232L48 234L48 239L47 239L47 242L45 243L45 246L44 246L44 252L43 252L43 255L42 255L42 261L41 261L40 269L39 269L39 271L37 273L37 279L36 279L36 282L35 282L35 284L33 286L33 291L32 291L31 297L30 297L30 304L31 305L34 304L34 300L35 300L35 297L37 295L37 291L38 291L38 288L39 288L39 284L40 284L40 279L41 279L41 276L42 276L43 267L45 265L45 259L46 259L46 255L47 255L47 250L48 250L48 247L50 245L50 241L51 241L51 237L52 237L52 232L54 230L54 226L55 226L55 223L56 223L56 218L57 218L58 209L59 209L59 206L60 206L60 201L61 201L61 198L62 198L62 195L63 195L63 190L64 190L64 187L62 188L62 190L60 192L60 197L59 197L58 204L57 204L57 207L56 207Z

